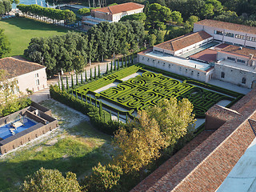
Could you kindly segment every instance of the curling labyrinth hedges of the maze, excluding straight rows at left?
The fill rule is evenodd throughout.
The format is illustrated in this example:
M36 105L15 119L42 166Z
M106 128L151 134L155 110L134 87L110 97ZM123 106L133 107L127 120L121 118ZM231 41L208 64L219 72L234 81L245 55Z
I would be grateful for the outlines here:
M144 110L149 106L154 106L163 98L176 97L178 100L188 98L193 103L194 113L198 118L204 118L210 106L222 99L233 100L222 94L182 83L150 71L146 71L142 76L122 82L117 87L102 91L100 95L134 110Z

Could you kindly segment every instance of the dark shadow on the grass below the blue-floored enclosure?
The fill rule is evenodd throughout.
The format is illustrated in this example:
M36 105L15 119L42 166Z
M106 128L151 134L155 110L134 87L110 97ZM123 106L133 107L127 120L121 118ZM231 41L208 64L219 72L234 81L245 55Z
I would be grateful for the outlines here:
M104 144L105 145L105 144ZM91 168L98 165L98 162L106 164L109 158L100 153L101 148L90 151L81 157L62 157L53 160L26 160L22 162L1 162L0 163L0 191L18 191L26 175L33 174L41 167L46 169L57 169L65 175L71 171L77 174L77 177L90 173ZM106 146L105 146L106 147Z

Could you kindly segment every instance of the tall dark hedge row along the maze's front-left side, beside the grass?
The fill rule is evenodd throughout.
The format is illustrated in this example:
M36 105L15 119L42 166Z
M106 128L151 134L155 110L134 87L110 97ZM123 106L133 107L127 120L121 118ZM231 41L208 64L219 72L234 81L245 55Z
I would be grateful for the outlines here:
M123 125L122 122L110 120L110 114L106 110L102 110L101 114L98 107L76 98L74 95L67 93L66 90L60 90L58 86L50 86L50 97L74 110L80 111L82 114L88 115L94 127L105 134L113 134L119 126Z

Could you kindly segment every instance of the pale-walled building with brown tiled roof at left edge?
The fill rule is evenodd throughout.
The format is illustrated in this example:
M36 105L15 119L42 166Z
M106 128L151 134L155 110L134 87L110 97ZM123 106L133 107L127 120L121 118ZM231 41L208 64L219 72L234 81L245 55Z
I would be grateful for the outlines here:
M38 91L47 87L46 66L35 62L26 62L17 58L0 59L0 70L8 72L10 81L18 82L19 91Z

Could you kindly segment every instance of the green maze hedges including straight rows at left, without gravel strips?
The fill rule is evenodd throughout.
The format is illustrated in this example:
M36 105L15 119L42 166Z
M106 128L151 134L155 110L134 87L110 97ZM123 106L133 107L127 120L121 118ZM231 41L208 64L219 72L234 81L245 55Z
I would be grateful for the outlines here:
M142 72L142 76L123 82L121 79L136 72ZM118 85L103 90L100 93L94 93L94 90L109 85L112 82L118 82ZM194 113L196 118L205 118L205 113L211 106L222 100L235 99L224 94L219 94L211 90L206 90L198 86L194 86L185 81L178 81L173 78L166 77L162 74L156 74L149 70L143 70L141 65L130 66L117 73L111 74L98 81L91 82L85 86L79 87L78 94L94 94L102 101L106 100L124 109L129 110L131 115L134 110L143 110L149 106L154 106L163 98L176 97L178 100L188 98L194 105ZM231 95L230 95L231 96ZM118 110L116 110L118 111ZM122 111L120 111L122 113Z

